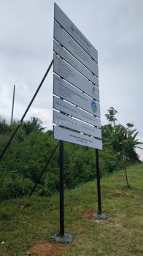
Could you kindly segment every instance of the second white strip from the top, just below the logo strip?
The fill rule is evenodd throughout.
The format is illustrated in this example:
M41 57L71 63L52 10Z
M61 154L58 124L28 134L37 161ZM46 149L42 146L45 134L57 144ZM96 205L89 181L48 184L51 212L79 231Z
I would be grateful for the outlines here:
M93 72L94 75L98 72L98 64L96 64L96 61L93 61L91 57L85 53L85 50L83 50L80 45L77 44L77 42L72 39L69 34L64 31L64 29L61 28L61 26L58 25L54 21L54 38L63 45L66 50L69 50L69 52L77 58L85 67L90 69L91 72ZM98 86L98 79L96 81L96 85Z

